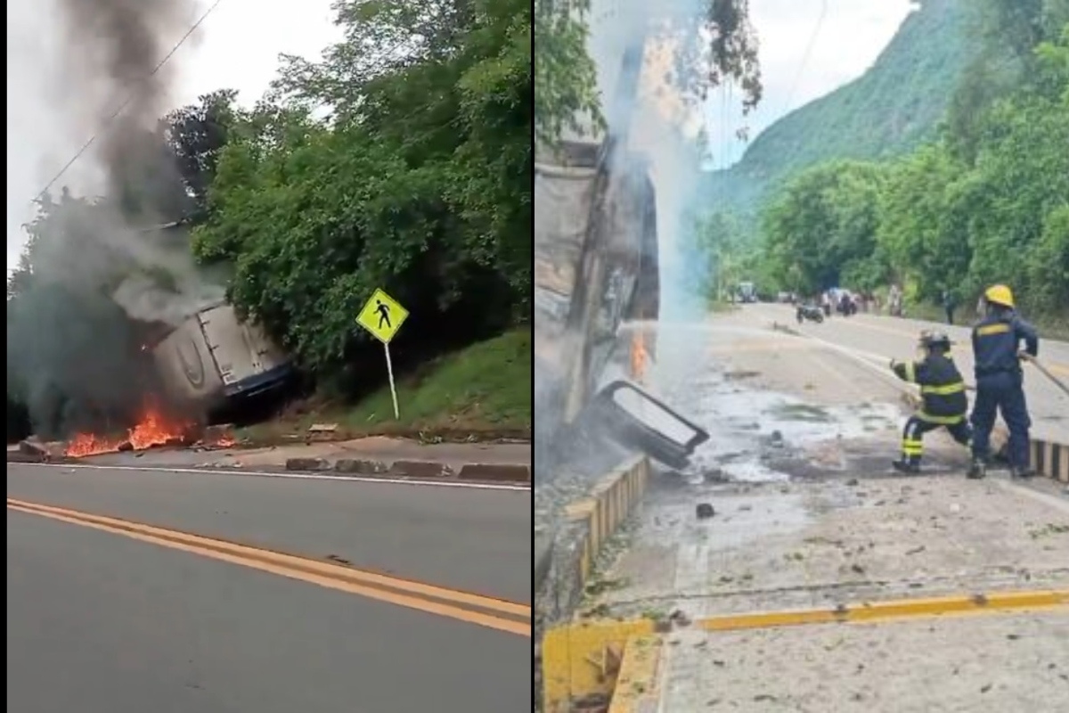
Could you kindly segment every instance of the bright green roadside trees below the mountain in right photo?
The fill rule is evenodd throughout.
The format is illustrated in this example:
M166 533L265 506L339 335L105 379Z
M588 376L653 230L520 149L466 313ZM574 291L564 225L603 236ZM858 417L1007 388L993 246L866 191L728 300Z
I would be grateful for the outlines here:
M897 160L823 164L792 181L764 214L777 280L866 289L895 277L921 300L945 290L974 298L1005 282L1026 309L1064 317L1069 21L1032 55L1018 89L967 127L967 155L948 124L941 140Z

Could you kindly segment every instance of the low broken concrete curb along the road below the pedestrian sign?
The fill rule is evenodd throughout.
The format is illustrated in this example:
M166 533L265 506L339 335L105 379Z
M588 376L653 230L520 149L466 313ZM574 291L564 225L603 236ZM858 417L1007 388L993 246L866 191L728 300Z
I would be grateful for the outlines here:
M529 465L507 463L469 463L458 469L439 461L291 458L285 461L285 469L297 472L337 472L339 475L415 478L418 480L494 483L530 483L531 481Z

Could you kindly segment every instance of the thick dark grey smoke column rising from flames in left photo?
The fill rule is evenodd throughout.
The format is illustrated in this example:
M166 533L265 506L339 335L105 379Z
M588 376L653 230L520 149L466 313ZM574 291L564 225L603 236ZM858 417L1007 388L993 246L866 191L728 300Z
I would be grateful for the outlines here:
M223 296L193 265L181 227L152 230L190 203L159 123L179 58L157 65L196 11L192 0L52 0L34 6L41 34L15 66L9 48L9 84L22 75L32 87L44 127L32 139L50 173L69 158L55 146L96 137L58 183L81 196L41 198L20 269L9 273L9 394L14 385L42 434L137 419L154 386L146 337Z

